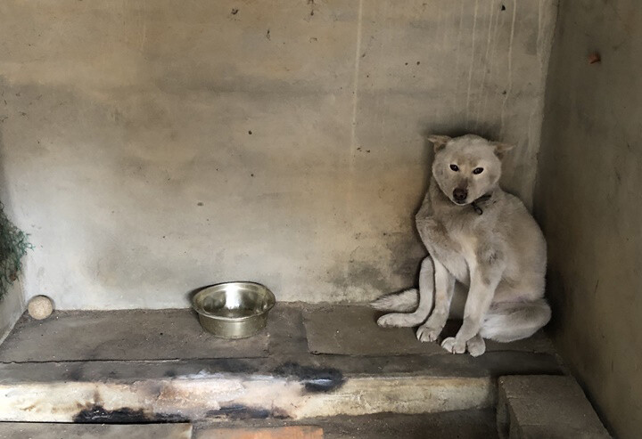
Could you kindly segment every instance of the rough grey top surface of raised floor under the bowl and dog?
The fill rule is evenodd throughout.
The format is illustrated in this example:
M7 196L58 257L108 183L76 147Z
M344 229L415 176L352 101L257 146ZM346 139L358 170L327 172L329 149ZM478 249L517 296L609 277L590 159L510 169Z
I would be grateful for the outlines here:
M556 365L542 334L508 344L489 342L488 354L472 360L449 354L436 343L420 343L414 329L379 328L378 315L367 306L279 304L269 314L267 329L254 337L225 340L202 330L190 310L56 312L45 321L25 313L0 346L0 363L266 358L260 363L314 360L363 371L359 368L370 369L385 359L389 367L405 371L444 363L476 371L494 366L504 372L528 369L526 363L531 369ZM457 329L449 326L445 334Z

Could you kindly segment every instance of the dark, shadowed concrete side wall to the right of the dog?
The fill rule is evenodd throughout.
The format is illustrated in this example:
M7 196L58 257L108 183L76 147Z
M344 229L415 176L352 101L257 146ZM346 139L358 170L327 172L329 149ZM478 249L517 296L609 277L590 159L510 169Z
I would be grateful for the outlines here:
M535 196L558 346L621 438L642 426L641 42L639 2L561 2Z

